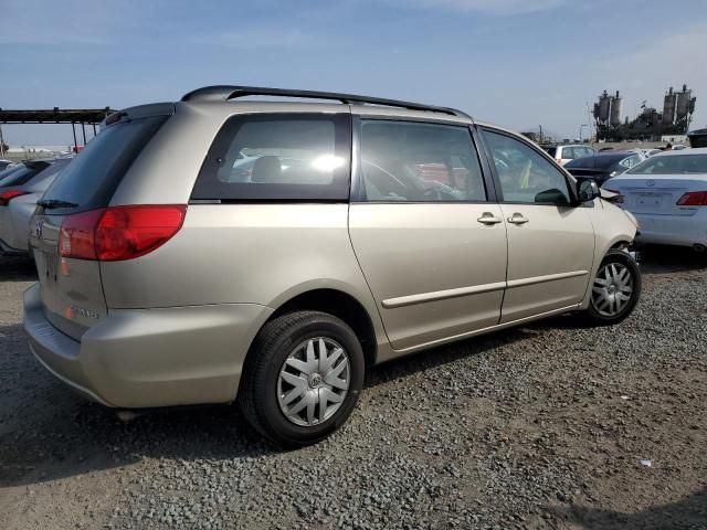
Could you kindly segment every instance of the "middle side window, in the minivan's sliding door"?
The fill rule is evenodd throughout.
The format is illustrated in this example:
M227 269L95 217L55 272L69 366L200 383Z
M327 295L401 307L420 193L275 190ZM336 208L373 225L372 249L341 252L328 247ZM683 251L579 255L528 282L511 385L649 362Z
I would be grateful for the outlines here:
M361 177L368 202L486 200L466 127L365 119Z

